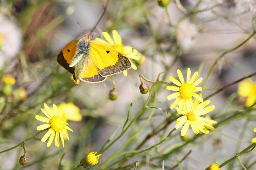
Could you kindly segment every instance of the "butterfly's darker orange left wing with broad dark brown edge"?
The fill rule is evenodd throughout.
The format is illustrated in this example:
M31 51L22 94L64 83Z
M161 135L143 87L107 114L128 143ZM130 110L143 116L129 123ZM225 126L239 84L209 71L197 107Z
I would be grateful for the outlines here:
M68 72L74 74L74 67L69 67L71 60L76 53L76 44L79 40L73 40L69 42L58 54L57 61L64 67Z

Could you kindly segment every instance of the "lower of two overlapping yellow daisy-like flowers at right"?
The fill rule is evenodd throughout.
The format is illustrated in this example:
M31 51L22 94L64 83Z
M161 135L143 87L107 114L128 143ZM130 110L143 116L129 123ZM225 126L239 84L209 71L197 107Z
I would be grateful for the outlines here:
M180 103L178 103L179 106ZM181 110L180 113L184 116L179 117L175 125L176 129L183 126L180 132L181 136L184 136L187 133L189 125L191 125L191 128L195 134L198 134L200 131L203 132L204 134L208 134L208 129L214 130L214 127L209 124L217 122L201 116L213 111L215 106L211 105L205 108L205 106L210 103L210 100L204 101L200 104L199 103L200 101L195 99L193 106L187 105ZM175 109L179 110L178 108Z

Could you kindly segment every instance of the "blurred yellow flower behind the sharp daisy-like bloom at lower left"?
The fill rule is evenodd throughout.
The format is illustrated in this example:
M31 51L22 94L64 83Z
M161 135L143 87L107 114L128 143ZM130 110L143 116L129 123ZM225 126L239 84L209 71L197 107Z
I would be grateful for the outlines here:
M57 106L58 110L62 111L64 121L72 120L72 121L81 121L82 115L80 114L80 109L74 103L64 103L62 102Z

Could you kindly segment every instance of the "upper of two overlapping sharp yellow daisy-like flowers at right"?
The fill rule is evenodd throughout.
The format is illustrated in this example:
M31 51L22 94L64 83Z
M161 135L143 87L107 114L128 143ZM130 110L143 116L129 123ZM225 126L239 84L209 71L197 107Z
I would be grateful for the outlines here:
M175 85L177 85L178 87L172 86L172 85L166 86L167 90L176 91L175 93L172 93L167 96L168 100L172 100L172 99L176 98L176 100L174 101L174 103L171 105L170 108L173 109L179 103L179 101L181 101L180 110L182 110L183 107L188 104L190 104L190 106L193 107L193 100L192 100L193 97L195 99L203 102L203 98L195 93L195 92L202 91L202 87L195 87L203 81L202 77L200 77L198 80L195 81L196 77L198 76L198 72L196 71L190 79L191 70L188 68L186 83L184 81L184 77L183 77L181 71L177 70L177 73L178 73L180 82L174 77L169 77L169 80L171 82L173 82ZM179 110L179 112L180 112L180 110Z

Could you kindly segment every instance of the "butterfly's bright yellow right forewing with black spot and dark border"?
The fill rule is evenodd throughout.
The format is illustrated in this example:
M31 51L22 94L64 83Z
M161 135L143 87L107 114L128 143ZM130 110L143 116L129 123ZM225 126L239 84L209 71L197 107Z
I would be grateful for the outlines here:
M131 68L129 59L113 47L100 41L90 40L90 58L102 77L121 73Z

